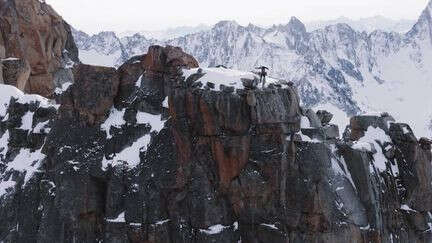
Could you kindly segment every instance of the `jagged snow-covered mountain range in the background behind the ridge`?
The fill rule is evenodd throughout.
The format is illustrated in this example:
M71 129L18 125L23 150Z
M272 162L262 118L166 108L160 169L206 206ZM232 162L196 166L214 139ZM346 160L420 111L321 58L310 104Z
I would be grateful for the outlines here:
M387 111L397 120L415 124L415 132L426 136L432 120L431 12L432 2L404 33L395 29L368 33L344 23L322 28L325 23L315 23L310 28L318 29L308 31L292 17L288 24L266 28L221 21L209 30L169 40L139 33L119 37L114 32L89 36L74 31L73 35L80 59L93 65L118 67L153 44L180 46L203 67L251 70L265 65L273 77L297 85L305 106L333 112L340 125L347 124L349 116ZM399 26L400 31L408 24L381 20L352 24L381 23L376 26Z

